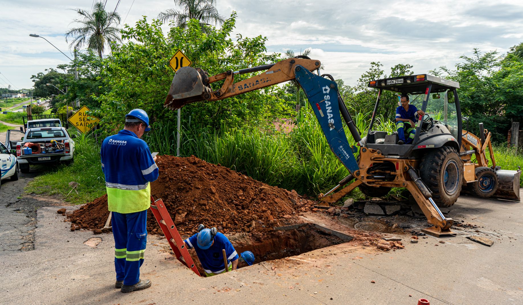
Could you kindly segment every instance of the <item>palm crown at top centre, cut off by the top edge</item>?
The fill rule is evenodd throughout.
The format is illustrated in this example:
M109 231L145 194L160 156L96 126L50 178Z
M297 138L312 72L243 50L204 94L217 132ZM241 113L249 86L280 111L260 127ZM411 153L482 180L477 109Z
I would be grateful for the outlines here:
M181 6L181 10L169 8L165 12L158 14L158 19L163 23L174 20L179 28L186 28L190 19L197 19L200 25L223 24L225 20L218 10L214 7L216 0L174 0L174 3Z

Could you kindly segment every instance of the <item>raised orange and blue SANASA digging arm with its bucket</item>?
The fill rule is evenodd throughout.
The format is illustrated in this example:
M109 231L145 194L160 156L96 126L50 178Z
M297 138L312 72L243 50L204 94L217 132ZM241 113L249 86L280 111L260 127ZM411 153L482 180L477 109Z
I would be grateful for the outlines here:
M200 68L183 67L176 72L173 78L164 107L175 110L189 103L219 101L278 83L296 80L305 92L331 150L349 172L353 173L359 167L353 154L355 151L347 141L342 117L356 141L362 143L361 137L338 93L336 82L311 72L319 70L320 66L319 60L290 58L239 71L229 70L213 76L209 76ZM265 72L234 83L234 75L259 71ZM330 75L328 76L330 77ZM220 80L224 80L221 88L212 90L210 84ZM342 116L340 117L339 114Z

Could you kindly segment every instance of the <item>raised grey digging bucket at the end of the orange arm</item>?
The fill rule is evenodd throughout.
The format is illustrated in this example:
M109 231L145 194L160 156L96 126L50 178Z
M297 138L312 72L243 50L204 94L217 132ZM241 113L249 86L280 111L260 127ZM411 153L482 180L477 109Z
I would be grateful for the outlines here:
M174 75L164 107L176 110L189 103L207 100L211 91L209 86L203 84L200 72L195 68L182 67Z

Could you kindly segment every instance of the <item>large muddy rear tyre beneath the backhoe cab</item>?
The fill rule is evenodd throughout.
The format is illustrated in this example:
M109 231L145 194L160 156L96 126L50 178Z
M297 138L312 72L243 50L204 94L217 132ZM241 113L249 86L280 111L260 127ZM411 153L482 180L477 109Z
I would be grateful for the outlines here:
M463 162L455 148L443 146L427 153L422 157L419 173L438 206L449 207L458 200Z

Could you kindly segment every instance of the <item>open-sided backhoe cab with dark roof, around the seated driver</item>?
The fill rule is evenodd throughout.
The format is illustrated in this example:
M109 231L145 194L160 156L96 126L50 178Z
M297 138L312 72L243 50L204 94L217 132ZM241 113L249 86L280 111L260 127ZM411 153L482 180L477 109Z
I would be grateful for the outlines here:
M378 89L378 98L367 136L362 139L365 146L378 149L385 156L401 157L418 156L425 148L451 146L457 151L460 150L461 111L456 92L459 83L429 74L418 74L374 80L370 81L368 86ZM392 95L389 92L392 92ZM407 139L408 144L402 145L401 142L398 143L400 138L396 129L387 132L385 126L375 124L379 123L376 116L380 113L380 102L388 99L391 108L390 100L394 99L397 105L402 107L401 95L408 96L410 105L425 113L424 116L415 116L415 126L408 129L410 132L406 132L407 128L404 128L405 137L410 139ZM389 113L388 116L395 121L396 112Z

